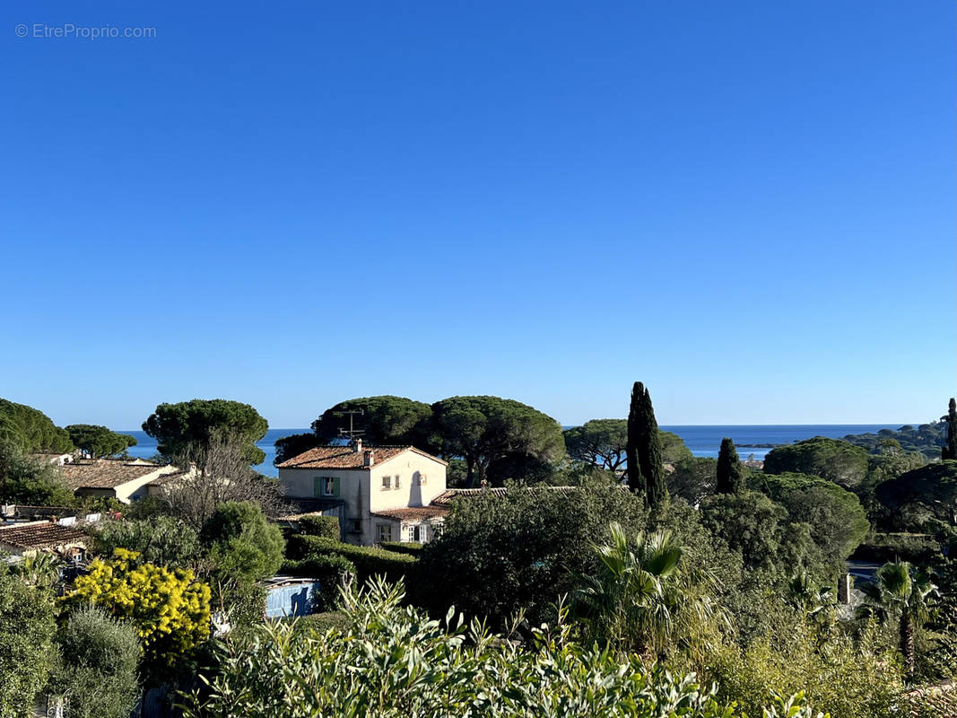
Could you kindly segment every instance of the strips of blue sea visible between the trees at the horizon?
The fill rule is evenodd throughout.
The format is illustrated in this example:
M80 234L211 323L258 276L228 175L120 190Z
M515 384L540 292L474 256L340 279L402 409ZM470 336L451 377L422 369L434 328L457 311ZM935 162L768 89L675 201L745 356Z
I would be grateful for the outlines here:
M743 460L752 454L754 459L762 460L770 451L769 447L758 448L748 444L789 444L804 438L828 437L844 438L848 434L877 434L880 429L900 429L906 421L886 424L767 424L758 426L729 425L729 426L662 426L664 431L674 432L696 457L717 457L724 437L734 439L738 447L738 454ZM915 422L917 426L920 422ZM568 427L566 427L568 428ZM256 446L266 454L266 460L256 466L256 471L267 476L277 476L278 471L273 466L276 459L274 444L278 438L288 437L291 434L304 434L309 429L270 429ZM156 439L149 438L142 431L124 431L139 441L129 450L130 455L149 459L156 454Z

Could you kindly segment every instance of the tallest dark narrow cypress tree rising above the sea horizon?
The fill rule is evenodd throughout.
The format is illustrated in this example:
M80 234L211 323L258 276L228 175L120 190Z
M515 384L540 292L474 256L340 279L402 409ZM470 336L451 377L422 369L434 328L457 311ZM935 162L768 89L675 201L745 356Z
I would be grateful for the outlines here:
M640 382L632 388L632 406L628 413L628 485L633 491L645 491L645 503L655 508L668 501L668 486L661 460L661 438L658 435L651 394Z

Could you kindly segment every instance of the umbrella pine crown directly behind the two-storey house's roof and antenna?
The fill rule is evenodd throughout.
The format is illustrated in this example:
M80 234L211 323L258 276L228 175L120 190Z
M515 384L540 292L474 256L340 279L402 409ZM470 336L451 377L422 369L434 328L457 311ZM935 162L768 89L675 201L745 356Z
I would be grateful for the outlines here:
M357 414L349 414L357 412ZM432 407L404 396L363 396L340 401L312 422L318 444L340 438L340 430L362 431L363 440L378 445L412 444L429 448Z

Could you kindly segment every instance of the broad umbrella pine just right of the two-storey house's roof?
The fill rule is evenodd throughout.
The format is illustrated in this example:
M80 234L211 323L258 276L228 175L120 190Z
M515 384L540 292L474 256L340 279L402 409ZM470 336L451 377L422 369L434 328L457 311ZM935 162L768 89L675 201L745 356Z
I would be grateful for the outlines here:
M462 457L466 484L484 480L493 461L525 457L557 463L565 456L561 425L514 399L452 396L435 402L433 429L443 457Z

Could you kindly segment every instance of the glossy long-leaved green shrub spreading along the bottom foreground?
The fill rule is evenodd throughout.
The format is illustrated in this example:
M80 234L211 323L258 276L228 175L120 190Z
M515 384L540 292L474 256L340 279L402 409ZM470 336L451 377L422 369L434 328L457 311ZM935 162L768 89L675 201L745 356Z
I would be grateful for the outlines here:
M188 700L187 718L738 715L714 700L714 687L690 676L579 645L567 623L529 631L526 645L512 633L464 623L454 610L430 619L402 599L401 587L377 582L344 592L344 629L280 623L233 643L209 689ZM783 709L790 718L812 716L799 706Z

